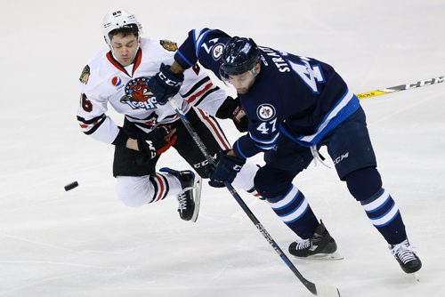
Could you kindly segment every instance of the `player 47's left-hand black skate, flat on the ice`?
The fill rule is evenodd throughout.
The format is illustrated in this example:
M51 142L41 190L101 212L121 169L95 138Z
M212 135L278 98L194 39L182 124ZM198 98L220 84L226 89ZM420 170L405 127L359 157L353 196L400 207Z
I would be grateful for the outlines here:
M340 260L336 254L336 241L332 238L322 221L309 239L298 239L289 245L289 253L299 258Z

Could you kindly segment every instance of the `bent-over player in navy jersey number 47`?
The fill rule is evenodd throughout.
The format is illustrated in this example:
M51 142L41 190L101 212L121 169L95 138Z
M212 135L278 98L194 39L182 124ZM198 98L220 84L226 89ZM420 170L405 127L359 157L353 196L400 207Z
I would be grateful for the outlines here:
M406 273L422 263L409 245L401 212L382 188L360 102L334 68L308 57L257 46L218 29L194 29L149 85L159 103L177 92L182 71L197 61L232 84L248 117L248 133L225 152L209 183L232 182L246 159L264 152L255 189L300 237L289 253L312 257L336 252L336 242L292 181L327 146L336 172L388 243Z

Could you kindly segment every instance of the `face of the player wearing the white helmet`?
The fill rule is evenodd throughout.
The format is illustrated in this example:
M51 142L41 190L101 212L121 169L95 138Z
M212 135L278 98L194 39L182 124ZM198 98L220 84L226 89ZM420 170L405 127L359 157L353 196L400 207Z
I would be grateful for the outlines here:
M111 46L113 46L113 54L117 61L122 66L128 66L133 63L136 56L138 37L133 34L125 37L122 34L117 34L111 39Z

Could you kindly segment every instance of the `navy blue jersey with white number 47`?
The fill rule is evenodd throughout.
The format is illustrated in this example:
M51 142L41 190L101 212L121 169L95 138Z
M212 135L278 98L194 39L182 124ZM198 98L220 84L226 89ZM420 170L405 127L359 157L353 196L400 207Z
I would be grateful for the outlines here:
M231 36L218 29L193 29L174 56L182 68L197 61L220 75L223 48ZM260 46L261 70L246 94L239 94L249 132L233 145L239 157L273 148L280 134L311 147L360 103L330 65Z

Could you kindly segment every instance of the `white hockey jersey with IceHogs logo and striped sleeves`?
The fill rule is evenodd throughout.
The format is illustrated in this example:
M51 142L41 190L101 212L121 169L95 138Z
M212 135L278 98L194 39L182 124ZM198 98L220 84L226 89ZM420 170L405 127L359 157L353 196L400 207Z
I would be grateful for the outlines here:
M150 132L158 124L179 120L174 108L170 104L159 105L147 86L161 63L174 62L175 51L176 44L170 41L141 38L134 64L125 68L107 50L94 55L80 76L82 93L77 120L82 131L107 143L117 138L117 124L106 115L108 104L144 132ZM184 82L174 99L184 112L193 105L214 116L226 94L197 64L184 72Z

